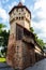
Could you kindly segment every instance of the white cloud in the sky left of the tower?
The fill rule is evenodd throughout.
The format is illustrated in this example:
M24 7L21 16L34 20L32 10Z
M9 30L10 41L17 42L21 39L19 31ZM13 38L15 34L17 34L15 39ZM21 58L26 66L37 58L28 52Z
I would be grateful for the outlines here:
M9 30L10 29L10 26L9 26L9 14L7 14L7 12L6 12L6 10L4 10L3 8L2 8L2 2L0 1L0 23L3 23L4 25L6 25L6 30Z

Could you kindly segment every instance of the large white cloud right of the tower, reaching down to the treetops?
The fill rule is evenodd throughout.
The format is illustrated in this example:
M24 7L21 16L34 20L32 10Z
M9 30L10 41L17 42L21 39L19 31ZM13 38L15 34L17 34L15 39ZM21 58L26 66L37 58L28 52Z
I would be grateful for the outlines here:
M40 23L32 22L32 26L34 28L35 33L37 33L39 38L43 39L46 42L46 20L41 20Z

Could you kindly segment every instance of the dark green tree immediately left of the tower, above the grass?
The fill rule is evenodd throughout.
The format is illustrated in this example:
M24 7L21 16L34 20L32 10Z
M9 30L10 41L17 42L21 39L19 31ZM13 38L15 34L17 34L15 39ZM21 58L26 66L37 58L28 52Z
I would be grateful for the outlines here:
M10 34L10 31L6 31L6 30L3 30L1 32L1 37L3 38L1 41L1 45L3 46L1 53L4 55L4 57L6 55L6 50L7 50L9 34Z

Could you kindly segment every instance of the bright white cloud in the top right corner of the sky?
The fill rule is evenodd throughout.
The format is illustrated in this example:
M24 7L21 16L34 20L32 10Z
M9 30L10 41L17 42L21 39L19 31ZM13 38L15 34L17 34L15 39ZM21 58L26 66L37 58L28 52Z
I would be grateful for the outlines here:
M34 10L41 9L37 12L39 17L46 18L46 0L39 0L34 4Z

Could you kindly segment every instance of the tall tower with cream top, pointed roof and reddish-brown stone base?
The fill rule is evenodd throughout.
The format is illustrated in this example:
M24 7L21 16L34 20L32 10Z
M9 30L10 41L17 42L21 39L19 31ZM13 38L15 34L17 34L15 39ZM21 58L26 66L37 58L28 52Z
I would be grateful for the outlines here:
M27 32L27 30L30 31L31 12L26 5L22 5L22 3L19 2L18 5L14 6L9 14L11 29L6 61L13 68L22 70L25 68L25 56L27 56L25 55L25 53L27 53L27 48L24 47L25 43L22 42L22 37L24 31L25 33ZM28 59L27 57L27 64L29 64L30 59ZM28 66L29 65L27 65L26 67Z

